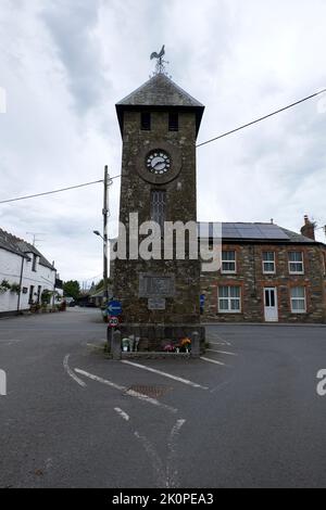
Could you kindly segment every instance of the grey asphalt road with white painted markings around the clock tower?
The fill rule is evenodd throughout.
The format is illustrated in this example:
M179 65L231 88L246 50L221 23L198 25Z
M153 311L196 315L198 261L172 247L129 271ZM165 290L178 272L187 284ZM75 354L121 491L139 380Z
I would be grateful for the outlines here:
M0 320L0 487L325 487L326 329L208 333L139 367L96 348L97 310Z

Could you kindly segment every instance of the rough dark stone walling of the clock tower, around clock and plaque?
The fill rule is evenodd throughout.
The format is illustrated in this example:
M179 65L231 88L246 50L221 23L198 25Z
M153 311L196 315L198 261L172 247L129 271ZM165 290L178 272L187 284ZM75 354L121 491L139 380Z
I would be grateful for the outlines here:
M163 146L164 145L164 146ZM179 130L168 131L168 112L152 112L151 130L140 129L140 112L124 113L120 221L128 228L129 213L138 213L139 225L151 219L151 191L166 191L165 220L197 220L196 115L179 113ZM172 179L147 181L145 154L164 149L172 157ZM148 173L148 177L152 176ZM162 183L163 182L163 183ZM127 230L128 233L128 230ZM140 239L141 241L141 239ZM127 257L128 257L127 253ZM139 296L139 275L173 275L175 293L166 297L164 310L149 310L148 298ZM168 324L199 322L199 260L114 262L114 296L122 302L126 323Z

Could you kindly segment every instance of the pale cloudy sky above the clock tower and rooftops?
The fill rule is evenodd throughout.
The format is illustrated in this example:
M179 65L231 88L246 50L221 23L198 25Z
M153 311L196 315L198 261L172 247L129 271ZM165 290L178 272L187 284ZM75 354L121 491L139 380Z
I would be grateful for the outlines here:
M205 141L326 87L325 0L0 0L0 201L121 171L114 104L166 47ZM198 149L200 220L326 224L326 98ZM120 179L110 190L116 234ZM63 279L102 271L102 187L0 205ZM318 239L325 240L323 231Z

